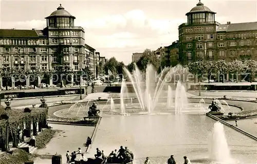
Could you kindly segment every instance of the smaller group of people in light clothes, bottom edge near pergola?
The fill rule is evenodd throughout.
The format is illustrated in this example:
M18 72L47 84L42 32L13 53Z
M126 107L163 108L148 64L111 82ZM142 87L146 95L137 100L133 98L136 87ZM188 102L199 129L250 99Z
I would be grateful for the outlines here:
M66 163L70 164L84 164L87 161L87 158L85 157L84 153L82 153L81 148L78 149L78 151L66 152Z

